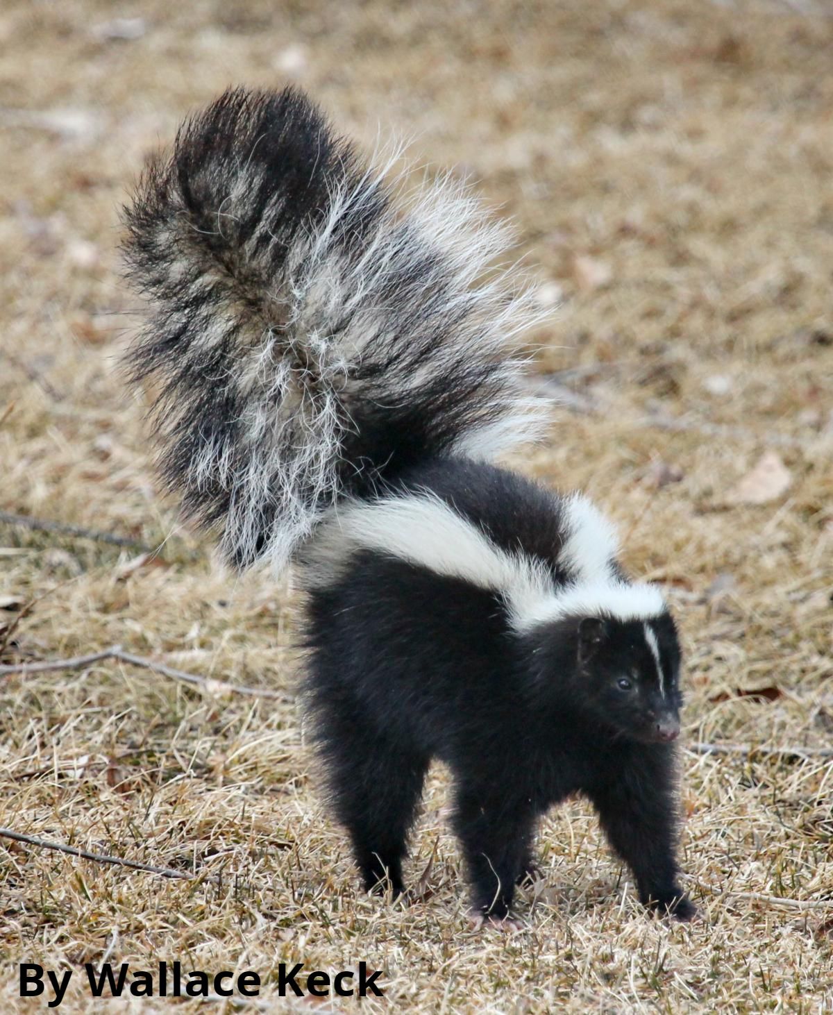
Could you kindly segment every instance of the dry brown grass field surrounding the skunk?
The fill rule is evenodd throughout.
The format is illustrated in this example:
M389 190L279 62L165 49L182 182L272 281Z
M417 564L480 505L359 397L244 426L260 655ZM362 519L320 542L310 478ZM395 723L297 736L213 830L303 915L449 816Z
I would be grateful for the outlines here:
M106 1007L82 983L105 957L254 969L248 1007L276 1012L833 1011L832 54L830 0L4 0L0 509L161 549L0 522L0 663L119 644L209 682L0 676L0 825L197 872L0 838L0 1011L46 1010L21 961L73 970L61 1011ZM287 80L472 174L559 304L530 340L565 404L513 464L588 491L668 589L697 923L640 910L576 801L524 929L472 931L439 769L420 901L362 894L303 743L291 587L224 573L158 494L118 373L119 207L188 110ZM384 999L277 996L280 962L359 960Z

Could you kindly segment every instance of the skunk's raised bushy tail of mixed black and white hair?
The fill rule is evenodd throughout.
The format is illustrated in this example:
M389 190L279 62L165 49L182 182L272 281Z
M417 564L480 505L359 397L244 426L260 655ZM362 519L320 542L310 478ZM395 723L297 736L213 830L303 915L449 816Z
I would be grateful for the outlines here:
M449 178L394 207L299 91L227 91L153 158L125 209L149 297L159 465L236 565L283 565L343 495L426 456L491 457L542 412L509 346L535 317Z

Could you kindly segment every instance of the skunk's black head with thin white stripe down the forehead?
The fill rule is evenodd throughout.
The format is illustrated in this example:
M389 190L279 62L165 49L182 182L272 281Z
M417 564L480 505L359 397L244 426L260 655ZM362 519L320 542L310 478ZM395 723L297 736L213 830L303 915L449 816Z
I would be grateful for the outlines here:
M577 690L593 718L617 734L668 743L680 733L680 642L668 613L578 623Z

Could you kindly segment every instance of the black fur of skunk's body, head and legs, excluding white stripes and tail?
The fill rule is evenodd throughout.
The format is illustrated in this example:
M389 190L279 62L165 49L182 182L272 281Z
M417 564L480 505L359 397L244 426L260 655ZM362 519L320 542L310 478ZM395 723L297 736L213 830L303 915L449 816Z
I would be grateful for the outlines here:
M430 489L495 541L554 560L559 501L533 483L444 460L401 485ZM640 899L681 920L694 915L675 860L675 750L657 739L679 729L681 704L668 614L651 621L665 699L642 621L574 617L518 634L499 596L368 551L348 576L313 590L307 624L318 742L368 889L403 891L408 829L439 758L456 781L454 824L476 910L507 915L533 866L537 819L582 793ZM617 685L625 676L630 691Z

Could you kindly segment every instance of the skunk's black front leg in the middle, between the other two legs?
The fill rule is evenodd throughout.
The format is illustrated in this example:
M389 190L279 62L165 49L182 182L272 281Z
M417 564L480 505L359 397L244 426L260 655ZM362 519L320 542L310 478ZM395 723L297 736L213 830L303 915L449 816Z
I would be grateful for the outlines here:
M466 858L476 916L505 921L515 881L530 855L535 815L528 800L507 800L506 786L463 783L454 826Z

